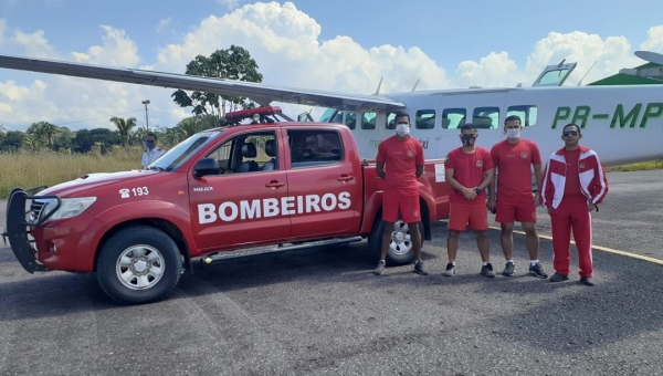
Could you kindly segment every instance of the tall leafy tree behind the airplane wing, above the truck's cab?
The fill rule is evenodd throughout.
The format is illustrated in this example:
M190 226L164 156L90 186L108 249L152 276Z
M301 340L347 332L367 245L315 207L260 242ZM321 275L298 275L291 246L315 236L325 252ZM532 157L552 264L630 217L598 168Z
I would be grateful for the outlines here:
M187 64L186 73L246 82L262 82L263 79L262 74L257 72L257 63L251 58L249 51L234 44L230 49L214 51L209 58L196 56ZM171 96L180 107L193 107L191 112L196 115L209 114L217 118L225 115L227 104L230 104L231 111L254 106L245 97L198 91L178 90Z

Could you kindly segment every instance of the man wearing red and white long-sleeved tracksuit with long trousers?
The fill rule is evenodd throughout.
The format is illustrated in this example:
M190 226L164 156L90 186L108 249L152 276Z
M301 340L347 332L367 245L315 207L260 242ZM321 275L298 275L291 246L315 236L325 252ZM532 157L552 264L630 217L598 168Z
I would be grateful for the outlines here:
M606 170L597 153L579 145L582 134L576 124L564 127L565 147L548 158L541 186L541 202L548 208L552 227L555 274L550 282L569 279L571 229L578 248L580 283L592 286L591 281L591 215L598 211L608 194Z

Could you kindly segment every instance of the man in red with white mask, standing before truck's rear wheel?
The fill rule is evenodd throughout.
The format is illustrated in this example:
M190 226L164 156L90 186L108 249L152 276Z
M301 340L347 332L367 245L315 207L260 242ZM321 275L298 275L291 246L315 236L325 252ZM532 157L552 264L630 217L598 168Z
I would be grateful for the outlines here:
M421 261L421 233L419 232L421 211L417 185L417 179L423 174L423 147L418 139L410 137L410 116L408 114L397 113L393 121L396 135L380 143L376 158L378 175L385 179L382 192L385 232L382 233L380 261L373 274L381 275L385 272L387 251L391 243L394 222L398 221L400 212L410 231L415 260L414 272L428 275L423 268L423 261ZM387 165L387 169L385 169L385 165Z

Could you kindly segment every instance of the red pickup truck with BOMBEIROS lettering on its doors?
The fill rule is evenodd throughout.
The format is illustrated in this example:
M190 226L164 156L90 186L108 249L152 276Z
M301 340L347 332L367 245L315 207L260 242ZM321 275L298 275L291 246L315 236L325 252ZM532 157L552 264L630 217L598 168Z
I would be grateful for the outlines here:
M451 188L435 164L419 179L425 240L449 213ZM96 272L114 300L144 303L193 272L193 258L366 238L378 254L382 185L343 125L231 125L189 137L148 169L15 188L3 236L30 273ZM388 262L410 262L407 224L392 239Z

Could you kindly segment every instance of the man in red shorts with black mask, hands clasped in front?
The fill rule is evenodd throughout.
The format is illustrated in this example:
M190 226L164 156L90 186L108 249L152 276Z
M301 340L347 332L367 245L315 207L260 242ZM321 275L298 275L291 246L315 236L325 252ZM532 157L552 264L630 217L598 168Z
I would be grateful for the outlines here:
M449 263L442 273L445 276L455 274L455 258L459 251L459 238L467 223L476 233L476 244L483 265L481 274L495 276L490 262L491 243L488 242L488 212L486 211L485 188L493 182L495 169L491 153L476 146L478 133L472 124L461 128L462 147L451 150L444 163L444 177L454 189L449 199L449 238L446 251Z

